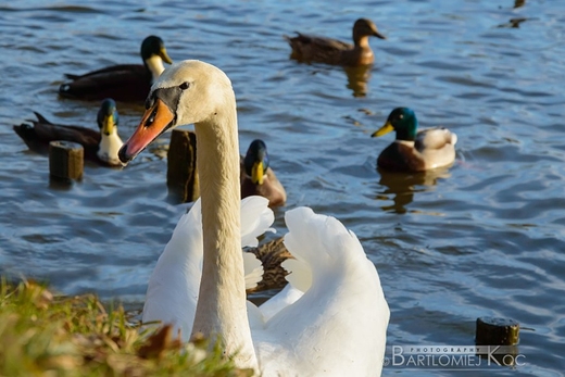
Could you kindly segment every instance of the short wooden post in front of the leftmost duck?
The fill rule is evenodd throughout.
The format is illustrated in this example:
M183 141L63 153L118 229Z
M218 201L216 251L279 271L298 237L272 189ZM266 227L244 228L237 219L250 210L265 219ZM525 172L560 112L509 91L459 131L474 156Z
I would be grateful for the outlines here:
M51 141L49 143L49 173L62 179L83 177L84 148L77 142Z

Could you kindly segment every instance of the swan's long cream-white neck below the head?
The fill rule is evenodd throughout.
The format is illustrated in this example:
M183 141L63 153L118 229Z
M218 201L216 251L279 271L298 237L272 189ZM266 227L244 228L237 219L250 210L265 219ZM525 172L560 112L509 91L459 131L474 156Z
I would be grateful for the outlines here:
M204 262L191 337L200 334L212 342L219 337L239 367L256 369L246 309L235 99L194 129Z

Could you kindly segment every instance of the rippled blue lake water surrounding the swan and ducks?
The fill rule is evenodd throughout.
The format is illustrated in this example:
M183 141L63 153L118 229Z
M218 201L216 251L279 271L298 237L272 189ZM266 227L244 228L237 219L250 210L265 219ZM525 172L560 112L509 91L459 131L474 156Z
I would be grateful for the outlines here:
M371 41L371 70L288 59L284 34L349 40L360 16L388 37ZM526 20L511 27L517 18ZM524 365L388 366L385 376L561 375L564 25L565 3L543 0L0 5L1 272L141 306L188 206L167 193L166 161L148 151L124 171L88 164L80 183L61 187L11 125L38 111L95 127L98 103L58 98L63 74L139 62L140 41L155 34L173 60L204 60L231 78L241 152L254 138L266 141L286 209L310 205L360 237L391 309L389 345L473 344L479 316L523 326ZM376 169L392 136L369 135L398 105L414 109L422 126L457 134L454 166L427 175ZM118 110L127 138L141 106ZM276 212L279 234L284 211Z

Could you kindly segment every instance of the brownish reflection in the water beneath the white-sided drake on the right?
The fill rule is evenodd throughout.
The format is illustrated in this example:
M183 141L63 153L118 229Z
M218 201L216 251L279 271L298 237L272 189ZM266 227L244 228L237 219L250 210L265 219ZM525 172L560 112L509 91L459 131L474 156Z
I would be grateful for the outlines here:
M385 186L385 190L378 192L375 199L390 201L390 194L392 194L393 203L391 205L382 205L382 211L399 214L406 213L406 206L414 200L414 192L427 191L430 187L437 185L438 179L449 178L451 176L449 173L450 167L443 166L420 173L397 173L377 167L380 174L379 184Z

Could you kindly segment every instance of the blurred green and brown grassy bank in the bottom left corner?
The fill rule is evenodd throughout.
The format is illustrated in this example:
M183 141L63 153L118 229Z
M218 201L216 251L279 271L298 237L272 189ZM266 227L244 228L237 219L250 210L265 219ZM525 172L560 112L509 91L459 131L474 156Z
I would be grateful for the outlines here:
M251 376L219 347L181 343L170 326L141 326L96 296L63 297L0 280L0 376Z

